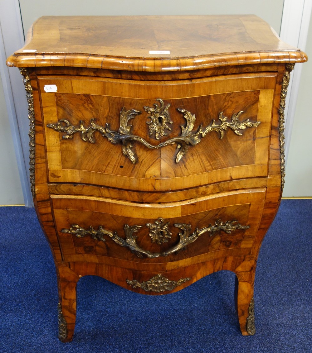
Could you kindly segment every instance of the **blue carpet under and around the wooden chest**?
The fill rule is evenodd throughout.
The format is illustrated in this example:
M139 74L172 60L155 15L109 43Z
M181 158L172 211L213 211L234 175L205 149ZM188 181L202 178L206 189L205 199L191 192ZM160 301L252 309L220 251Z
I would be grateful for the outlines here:
M73 341L57 338L57 283L34 209L0 207L0 352L312 352L312 200L283 200L260 250L255 336L236 321L220 271L177 293L140 295L78 282Z

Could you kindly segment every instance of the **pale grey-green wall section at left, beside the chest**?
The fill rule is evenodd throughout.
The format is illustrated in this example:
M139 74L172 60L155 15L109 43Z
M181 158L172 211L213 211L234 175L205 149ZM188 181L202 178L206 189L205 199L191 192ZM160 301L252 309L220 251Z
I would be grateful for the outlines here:
M23 204L23 192L19 180L1 77L0 126L0 205Z

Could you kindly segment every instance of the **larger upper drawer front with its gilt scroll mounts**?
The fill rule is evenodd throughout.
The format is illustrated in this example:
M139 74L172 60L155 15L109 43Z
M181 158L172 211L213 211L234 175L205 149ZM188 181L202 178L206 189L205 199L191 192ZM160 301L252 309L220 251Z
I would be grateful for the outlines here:
M48 180L166 191L264 177L276 76L38 76Z

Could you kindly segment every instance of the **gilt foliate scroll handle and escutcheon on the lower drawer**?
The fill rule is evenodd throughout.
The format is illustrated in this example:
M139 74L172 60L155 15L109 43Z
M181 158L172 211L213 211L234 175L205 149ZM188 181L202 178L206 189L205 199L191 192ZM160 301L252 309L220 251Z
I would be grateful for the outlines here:
M164 220L163 218L160 217L158 220L155 221L154 225L156 225L155 228L158 228L158 229L153 233L153 235L151 235L151 232L150 232L149 236L151 236L152 240L157 241L158 244L161 244L161 242L164 242L164 241L160 240L160 237L159 237L160 233L163 233L163 234L167 233L167 235L171 235L171 232L169 232L169 229L167 228L169 223L164 225ZM147 223L146 226L151 229L152 225L151 223ZM124 226L124 233L126 236L125 239L119 237L117 232L113 233L111 231L108 231L107 229L104 229L102 226L99 226L98 230L95 230L92 226L90 226L90 229L84 229L84 228L81 228L79 225L74 224L69 229L61 229L61 232L73 234L77 238L83 238L86 235L91 235L91 237L94 240L101 240L101 241L105 241L104 235L108 235L116 244L127 247L140 258L143 258L143 255L149 258L155 258L159 256L168 256L179 250L184 249L188 244L193 243L204 233L210 233L209 235L210 237L212 237L218 231L223 231L227 234L231 234L231 232L236 231L237 229L249 228L249 226L241 226L240 223L238 223L237 221L223 222L222 220L217 220L213 226L210 224L208 227L205 227L205 228L201 228L201 229L196 228L193 233L192 233L191 225L187 225L186 223L175 223L174 226L180 229L180 232L178 233L180 238L179 242L178 244L172 246L170 249L163 252L150 252L148 250L142 249L139 245L137 245L136 243L137 236L133 234L143 226L137 226L137 225L129 226L126 224ZM164 231L164 229L166 229L166 232ZM154 236L154 234L157 234L157 233L158 235Z

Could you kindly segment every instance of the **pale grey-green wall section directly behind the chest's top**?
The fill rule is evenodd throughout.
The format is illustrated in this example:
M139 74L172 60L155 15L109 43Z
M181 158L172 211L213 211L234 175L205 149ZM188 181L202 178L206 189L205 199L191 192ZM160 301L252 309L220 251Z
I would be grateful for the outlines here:
M283 0L19 0L24 31L40 16L256 14L277 33Z

